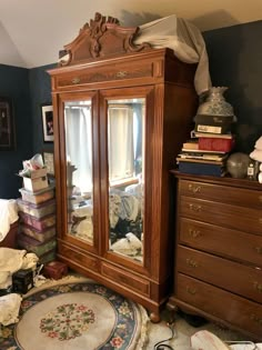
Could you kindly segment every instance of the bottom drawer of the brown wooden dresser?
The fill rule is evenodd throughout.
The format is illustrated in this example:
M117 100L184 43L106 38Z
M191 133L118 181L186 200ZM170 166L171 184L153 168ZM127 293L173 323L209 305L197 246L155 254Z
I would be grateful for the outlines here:
M178 274L175 297L245 331L262 334L262 306L211 284Z

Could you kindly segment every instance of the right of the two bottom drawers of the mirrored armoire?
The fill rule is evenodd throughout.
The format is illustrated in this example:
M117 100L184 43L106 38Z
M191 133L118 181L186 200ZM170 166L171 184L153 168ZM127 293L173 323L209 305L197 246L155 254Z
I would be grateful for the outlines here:
M120 270L105 262L102 262L101 273L102 276L110 278L120 284L131 288L132 290L142 293L147 297L150 297L150 282L142 278L133 276L127 271Z

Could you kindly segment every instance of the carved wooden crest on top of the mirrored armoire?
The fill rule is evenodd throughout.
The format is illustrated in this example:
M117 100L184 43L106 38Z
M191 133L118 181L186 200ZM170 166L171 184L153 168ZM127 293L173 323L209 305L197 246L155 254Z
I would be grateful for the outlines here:
M133 43L138 32L139 27L121 27L117 18L97 12L94 19L80 29L78 37L64 46L59 64L71 66L85 60L149 49L149 43Z

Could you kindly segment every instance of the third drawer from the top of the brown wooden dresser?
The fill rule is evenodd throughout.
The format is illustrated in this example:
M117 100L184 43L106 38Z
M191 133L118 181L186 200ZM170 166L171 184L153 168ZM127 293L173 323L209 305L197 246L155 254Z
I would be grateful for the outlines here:
M179 243L262 268L262 236L180 218Z

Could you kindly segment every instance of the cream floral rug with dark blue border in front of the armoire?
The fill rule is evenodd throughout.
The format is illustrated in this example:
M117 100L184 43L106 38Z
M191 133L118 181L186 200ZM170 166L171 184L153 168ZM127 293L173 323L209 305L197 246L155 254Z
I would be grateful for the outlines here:
M144 309L93 282L54 286L23 299L1 350L142 349ZM142 331L143 330L143 331Z

